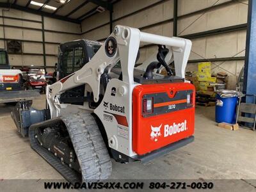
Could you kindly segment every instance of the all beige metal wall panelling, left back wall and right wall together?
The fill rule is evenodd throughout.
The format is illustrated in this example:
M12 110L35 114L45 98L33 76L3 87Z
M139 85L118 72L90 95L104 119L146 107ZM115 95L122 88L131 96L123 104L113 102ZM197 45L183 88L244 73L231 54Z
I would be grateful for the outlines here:
M178 0L177 11L177 35L193 34L189 37L193 47L189 58L191 63L188 64L187 70L195 71L198 60L211 59L213 71L239 74L244 65L246 28L226 30L224 33L217 33L218 35L211 33L211 30L246 24L248 0ZM11 65L44 65L42 17L19 10L4 12L4 17L6 40L22 40L24 52L22 55L10 55ZM16 19L12 19L13 17ZM118 1L113 4L113 26L117 24L139 28L148 33L172 36L173 0ZM104 40L109 35L109 12L88 17L83 20L81 26L44 17L44 28L46 65L51 67L49 70L53 70L52 67L57 60L58 44L61 42L79 38ZM195 37L195 33L204 31L210 33ZM4 47L3 18L0 18L0 47ZM141 45L138 63L155 51L156 47ZM232 61L228 61L227 58L232 58ZM223 61L218 61L220 59Z

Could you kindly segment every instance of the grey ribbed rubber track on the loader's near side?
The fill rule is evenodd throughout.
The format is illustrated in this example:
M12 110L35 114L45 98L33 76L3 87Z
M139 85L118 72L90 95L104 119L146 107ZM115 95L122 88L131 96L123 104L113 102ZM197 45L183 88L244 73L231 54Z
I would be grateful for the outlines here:
M84 181L96 181L108 179L111 175L111 159L106 145L102 139L95 119L90 113L77 113L69 116L60 116L52 120L34 124L29 127L31 148L51 164L69 182L81 182L81 175L62 164L44 147L41 147L35 138L36 127L51 127L58 122L64 122L80 164L82 179Z

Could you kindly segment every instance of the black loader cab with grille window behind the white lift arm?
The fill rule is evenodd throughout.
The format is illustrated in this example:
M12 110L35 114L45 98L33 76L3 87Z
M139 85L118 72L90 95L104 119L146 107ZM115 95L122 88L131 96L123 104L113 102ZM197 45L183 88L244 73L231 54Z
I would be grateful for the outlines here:
M76 72L88 63L101 47L100 42L91 40L75 40L60 45L56 79ZM84 85L77 86L61 94L60 102L67 104L83 105Z

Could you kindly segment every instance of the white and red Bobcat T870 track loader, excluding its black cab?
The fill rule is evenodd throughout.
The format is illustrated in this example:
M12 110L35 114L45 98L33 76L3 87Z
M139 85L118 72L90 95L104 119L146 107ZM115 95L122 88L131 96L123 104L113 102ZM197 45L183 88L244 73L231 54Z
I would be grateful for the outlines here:
M158 45L158 52L134 68L141 42ZM48 109L38 118L44 121L29 127L31 147L74 183L107 179L111 157L150 161L191 143L195 87L184 81L190 51L189 40L116 26L88 63L47 86ZM157 74L163 68L168 76ZM61 101L78 86L83 105Z

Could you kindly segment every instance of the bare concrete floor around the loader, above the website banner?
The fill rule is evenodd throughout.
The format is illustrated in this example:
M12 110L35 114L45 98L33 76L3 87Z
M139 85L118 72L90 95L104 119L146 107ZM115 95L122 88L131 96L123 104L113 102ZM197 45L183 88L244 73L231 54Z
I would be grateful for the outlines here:
M33 106L44 108L44 95ZM20 137L12 108L0 104L0 179L62 179ZM217 127L214 107L197 107L193 143L148 164L113 161L111 179L256 179L255 171L256 132Z

